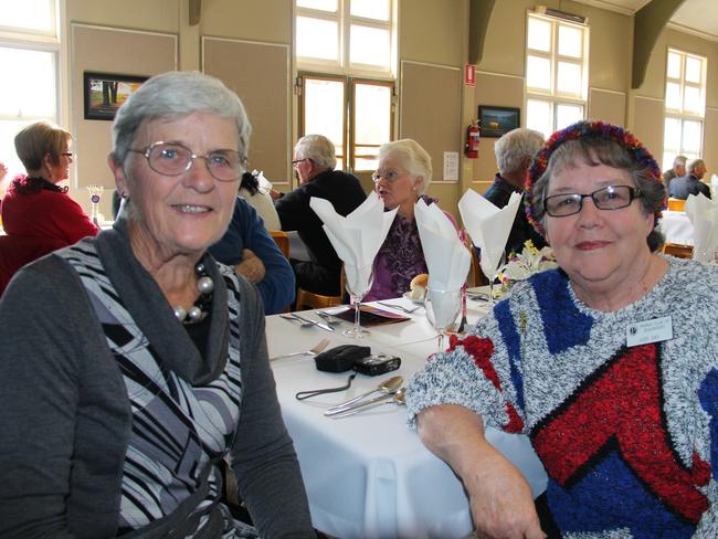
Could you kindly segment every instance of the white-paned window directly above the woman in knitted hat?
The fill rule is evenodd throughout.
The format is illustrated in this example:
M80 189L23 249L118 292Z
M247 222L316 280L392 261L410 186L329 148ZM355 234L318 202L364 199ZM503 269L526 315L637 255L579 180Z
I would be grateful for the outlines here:
M584 118L588 33L588 27L528 13L526 127L548 137Z

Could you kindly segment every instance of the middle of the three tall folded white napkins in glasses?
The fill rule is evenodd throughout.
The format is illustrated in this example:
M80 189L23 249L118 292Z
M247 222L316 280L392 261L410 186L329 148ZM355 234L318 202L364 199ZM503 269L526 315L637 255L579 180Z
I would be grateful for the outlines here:
M457 290L466 283L472 255L458 239L454 224L436 204L419 200L414 218L429 268L429 287Z

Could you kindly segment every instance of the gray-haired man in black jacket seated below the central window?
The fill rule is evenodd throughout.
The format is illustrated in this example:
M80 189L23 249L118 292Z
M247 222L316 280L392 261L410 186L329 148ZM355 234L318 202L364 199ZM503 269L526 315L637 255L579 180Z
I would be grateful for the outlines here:
M309 199L326 199L337 213L347 215L367 198L359 180L335 170L336 163L335 147L328 138L302 137L294 147L292 161L300 184L275 203L282 230L296 230L312 258L309 262L289 260L297 286L330 296L339 294L341 261L321 228L321 220L309 208Z

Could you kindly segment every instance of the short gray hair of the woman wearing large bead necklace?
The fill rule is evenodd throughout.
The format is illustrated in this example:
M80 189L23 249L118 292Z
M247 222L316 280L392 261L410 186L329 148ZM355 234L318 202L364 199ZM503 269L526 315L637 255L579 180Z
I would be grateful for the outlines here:
M250 151L252 126L237 95L219 78L198 71L172 71L144 83L117 110L113 123L112 158L124 165L135 136L145 120L181 118L193 113L212 113L233 119L243 160Z

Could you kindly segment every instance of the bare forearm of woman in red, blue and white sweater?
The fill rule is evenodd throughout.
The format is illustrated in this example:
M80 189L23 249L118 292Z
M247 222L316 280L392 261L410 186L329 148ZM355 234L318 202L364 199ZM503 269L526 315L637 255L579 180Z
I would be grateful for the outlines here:
M473 411L442 404L416 416L424 445L464 483L481 537L541 539L531 487L521 473L484 437Z

